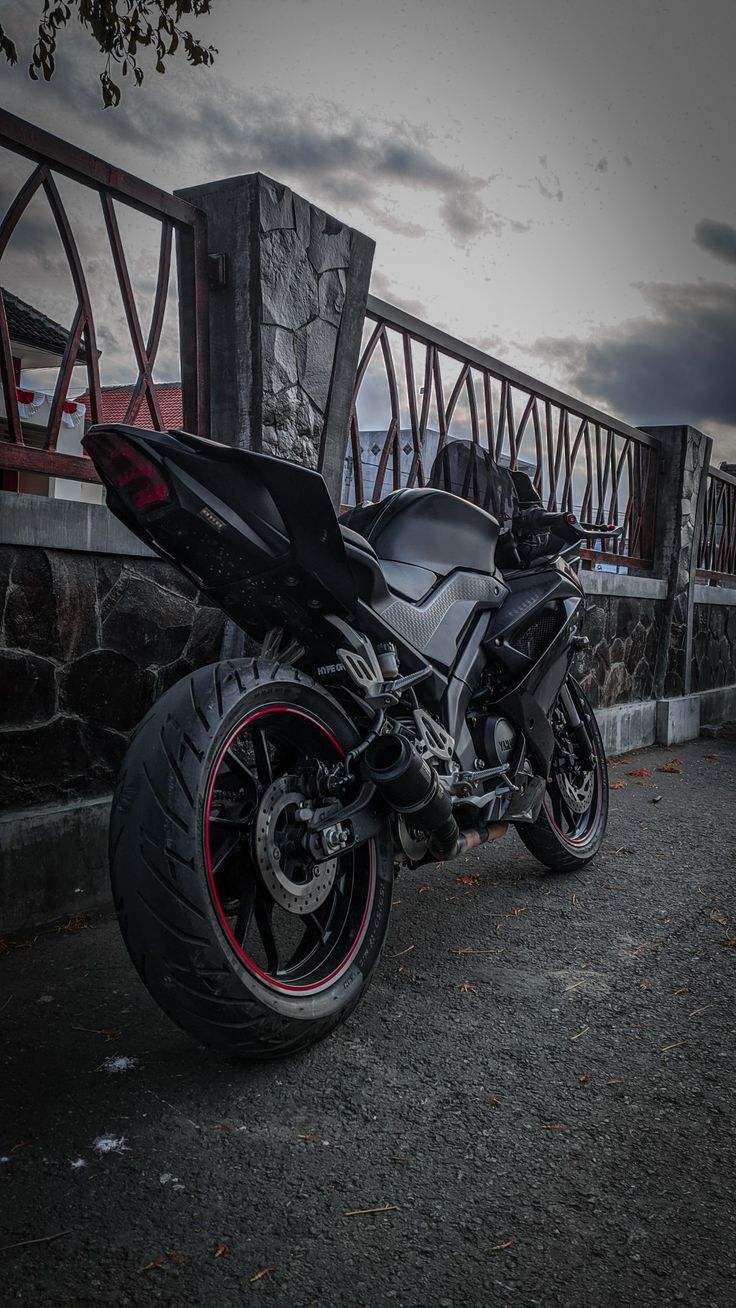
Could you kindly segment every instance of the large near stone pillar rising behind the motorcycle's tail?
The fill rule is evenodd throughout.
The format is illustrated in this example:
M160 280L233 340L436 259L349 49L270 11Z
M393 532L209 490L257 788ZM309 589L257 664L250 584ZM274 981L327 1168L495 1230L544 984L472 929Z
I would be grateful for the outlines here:
M261 173L188 187L210 255L210 436L319 468L339 502L374 242Z

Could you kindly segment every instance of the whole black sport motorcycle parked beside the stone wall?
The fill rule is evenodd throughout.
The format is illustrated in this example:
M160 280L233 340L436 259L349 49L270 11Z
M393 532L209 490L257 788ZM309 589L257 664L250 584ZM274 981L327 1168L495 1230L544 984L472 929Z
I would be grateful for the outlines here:
M516 827L556 871L600 848L603 742L571 676L590 536L451 441L431 484L339 521L322 476L184 432L95 426L107 505L246 633L135 732L112 803L120 927L197 1040L294 1053L356 1007L395 869Z

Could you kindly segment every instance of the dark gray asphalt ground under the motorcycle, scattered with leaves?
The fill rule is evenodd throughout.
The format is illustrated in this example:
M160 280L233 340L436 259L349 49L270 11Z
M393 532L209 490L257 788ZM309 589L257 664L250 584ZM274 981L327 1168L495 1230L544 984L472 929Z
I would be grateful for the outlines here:
M292 1062L199 1049L110 918L0 944L0 1303L731 1308L736 746L611 773L579 875L400 876Z

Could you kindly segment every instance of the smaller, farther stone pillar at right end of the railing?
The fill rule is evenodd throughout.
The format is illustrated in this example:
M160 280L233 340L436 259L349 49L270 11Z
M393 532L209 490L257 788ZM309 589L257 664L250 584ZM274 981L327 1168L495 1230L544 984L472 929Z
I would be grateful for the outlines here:
M646 426L659 437L654 569L667 582L654 696L689 695L697 549L712 441L693 426Z

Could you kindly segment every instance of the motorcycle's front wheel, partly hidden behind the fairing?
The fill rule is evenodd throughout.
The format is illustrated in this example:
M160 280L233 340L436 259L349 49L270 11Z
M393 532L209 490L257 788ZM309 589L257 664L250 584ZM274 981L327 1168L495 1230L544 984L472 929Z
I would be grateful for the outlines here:
M561 696L550 715L554 755L541 812L535 823L516 827L529 853L553 872L571 872L590 863L608 824L608 768L599 726L573 678L566 688L590 749L580 747L579 729L571 723Z

